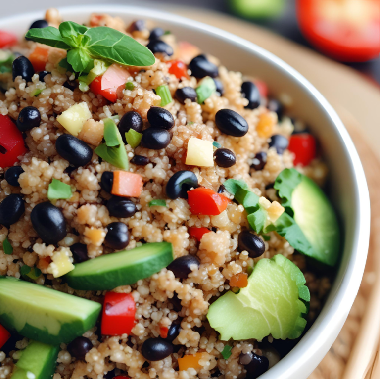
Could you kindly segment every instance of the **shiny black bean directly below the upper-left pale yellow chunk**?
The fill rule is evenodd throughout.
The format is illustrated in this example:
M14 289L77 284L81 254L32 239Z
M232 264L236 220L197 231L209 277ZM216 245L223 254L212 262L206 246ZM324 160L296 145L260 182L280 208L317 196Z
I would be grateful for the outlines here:
M75 167L86 166L93 157L91 147L71 134L59 136L55 141L55 148L63 159L66 159Z

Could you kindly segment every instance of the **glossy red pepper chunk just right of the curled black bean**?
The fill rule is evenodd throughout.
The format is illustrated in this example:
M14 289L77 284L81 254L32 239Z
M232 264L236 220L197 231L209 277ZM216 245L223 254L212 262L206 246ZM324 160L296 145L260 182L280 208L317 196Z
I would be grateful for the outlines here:
M188 191L190 212L193 215L216 216L221 214L229 203L229 199L209 188L196 188Z

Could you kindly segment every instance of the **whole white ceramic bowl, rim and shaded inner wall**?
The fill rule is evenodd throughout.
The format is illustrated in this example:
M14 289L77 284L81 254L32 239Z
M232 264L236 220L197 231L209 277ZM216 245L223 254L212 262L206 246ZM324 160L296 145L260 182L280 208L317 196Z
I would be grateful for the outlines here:
M154 9L106 5L62 8L64 20L82 23L90 13L109 13L126 21L153 20L178 40L189 41L220 58L231 70L264 80L271 93L288 94L291 112L304 120L321 142L330 169L333 203L343 226L343 256L330 295L300 342L260 379L306 379L322 360L343 326L362 279L370 231L369 194L355 147L327 100L281 59L223 30ZM0 29L21 36L43 12L0 20Z

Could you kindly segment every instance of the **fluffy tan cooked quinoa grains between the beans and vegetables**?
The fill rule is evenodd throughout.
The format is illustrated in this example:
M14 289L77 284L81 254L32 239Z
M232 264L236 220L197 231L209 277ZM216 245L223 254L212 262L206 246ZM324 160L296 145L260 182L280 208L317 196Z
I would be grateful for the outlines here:
M56 10L47 11L46 20L51 26L58 27L61 22ZM142 24L142 23L141 23ZM106 14L93 14L88 26L107 26L132 36L142 45L149 42L148 24L138 28L126 25L119 17ZM117 375L125 375L131 379L237 379L248 378L246 369L241 363L241 354L250 352L264 356L272 367L284 356L293 344L276 343L272 336L263 341L254 339L222 341L219 333L212 329L206 319L210 304L230 289L230 281L240 273L249 273L249 268L263 258L272 258L282 254L293 261L303 272L306 285L310 290L310 310L307 315L308 325L318 316L323 301L331 286L332 276L311 267L305 256L294 251L294 248L276 232L269 232L263 237L265 252L258 258L249 257L248 251L238 248L238 236L241 231L249 229L243 205L232 201L227 196L227 208L218 215L192 214L187 199L168 198L165 187L168 180L182 170L196 175L200 187L220 190L227 179L242 179L258 196L270 202L281 202L277 191L273 188L278 175L285 168L293 167L294 154L285 149L279 154L276 146L269 147L271 137L285 136L289 139L294 131L294 123L298 128L302 123L289 117L279 120L275 111L267 108L268 97L262 96L260 106L250 109L248 99L242 96L241 86L247 80L255 82L260 78L252 72L239 73L229 71L223 61L207 55L208 61L218 67L218 80L223 86L222 94L214 92L206 98L204 104L191 101L190 98L181 103L176 98L176 91L184 87L196 88L198 82L194 76L177 78L169 73L168 61L181 59L185 64L200 53L197 47L176 41L172 34L160 37L174 54L167 56L155 54L155 63L148 67L128 67L129 76L126 82L132 83L131 89L119 91L115 102L110 102L102 95L95 95L91 89L83 92L78 87L75 74L59 66L65 58L66 51L47 47L33 41L22 39L11 51L29 57L37 47L48 50L43 79L39 73L26 82L21 76L12 79L12 73L0 74L4 93L0 94L0 114L17 120L20 111L33 106L41 115L41 122L24 133L28 151L20 157L15 165L21 166L19 186L10 185L4 179L6 168L0 167L1 189L0 201L10 194L21 194L25 203L25 212L10 227L0 226L0 242L10 242L13 251L5 254L0 250L0 275L22 277L20 269L27 265L41 270L35 283L45 285L54 290L84 297L102 303L108 291L76 290L68 286L60 277L54 277L51 258L63 252L73 261L70 246L80 242L85 245L88 258L93 259L104 254L113 253L115 249L107 247L105 238L107 226L114 222L122 222L129 230L130 250L152 242L170 242L173 246L174 258L192 255L200 265L191 266L187 278L176 278L167 268L132 285L122 285L113 289L117 293L131 294L136 304L136 323L131 333L122 335L102 335L100 323L85 332L84 337L90 339L93 347L78 359L70 354L67 344L60 344L57 367L53 379L112 379ZM184 48L187 46L188 48ZM85 166L73 167L56 151L57 138L67 131L57 120L57 116L79 103L87 104L91 118L85 121L78 138L86 142L92 150L102 141L103 120L112 117L116 125L124 114L135 111L140 114L143 129L149 127L147 112L160 107L161 97L155 90L159 86L168 86L173 100L164 108L175 121L169 130L170 143L162 149L149 149L138 145L136 148L125 144L129 159L129 172L142 177L143 187L139 197L130 197L136 206L131 217L117 218L110 216L107 201L111 194L101 188L100 182L104 172L120 170L100 159L93 153L91 161ZM36 90L41 90L34 95ZM221 109L231 109L241 115L248 123L248 132L242 137L234 137L222 133L215 125L215 115ZM117 116L117 117L114 117ZM59 117L58 117L59 118ZM89 131L86 134L86 131ZM100 136L100 137L99 137ZM190 138L218 142L223 148L231 150L236 156L236 163L228 168L214 164L212 167L186 165L185 159ZM1 143L0 143L1 144ZM266 163L257 167L256 154L265 153ZM147 158L146 165L134 164L133 157L139 155ZM258 155L260 157L260 155ZM145 162L146 163L146 162ZM258 169L255 169L258 168ZM307 166L297 166L297 170L323 185L327 168L320 158L314 158ZM66 222L66 237L56 245L46 244L32 226L31 212L42 202L48 201L47 190L52 179L70 186L71 197L53 201L55 207L63 213ZM163 199L166 206L149 206L153 199ZM189 228L207 228L208 233L200 242L190 237ZM162 331L170 330L172 325L180 324L179 334L172 342L174 352L164 359L148 361L141 353L142 344L148 338L162 337ZM294 342L295 343L295 342ZM21 335L12 335L0 352L0 379L10 378L14 365L20 358L20 350L28 345L28 339ZM221 352L225 345L232 347L231 356L224 359ZM202 353L197 368L179 370L178 358L185 355ZM251 373L249 378L255 378Z

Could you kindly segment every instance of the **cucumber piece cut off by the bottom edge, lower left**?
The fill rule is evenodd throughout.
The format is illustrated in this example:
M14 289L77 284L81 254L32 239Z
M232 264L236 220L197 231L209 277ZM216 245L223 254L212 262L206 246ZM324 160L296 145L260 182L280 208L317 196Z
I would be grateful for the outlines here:
M59 346L30 340L29 345L21 352L21 358L15 365L12 379L52 378L58 352Z

